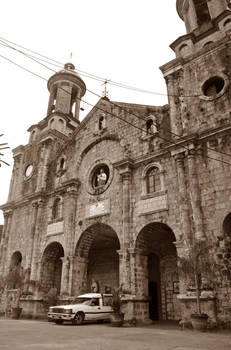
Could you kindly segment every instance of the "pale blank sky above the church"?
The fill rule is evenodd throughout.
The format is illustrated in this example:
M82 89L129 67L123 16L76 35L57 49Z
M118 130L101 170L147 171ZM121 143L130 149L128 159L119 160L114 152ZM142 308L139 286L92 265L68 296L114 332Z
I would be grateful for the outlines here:
M47 83L59 67L50 69L3 46L8 40L57 62L72 62L76 69L166 94L159 67L175 58L169 45L185 34L176 0L7 0L0 14L0 143L7 142L0 167L0 204L7 201L13 159L12 149L28 143L27 129L46 116ZM22 48L19 50L27 52ZM32 53L30 53L32 54ZM7 60L8 59L8 60ZM10 62L10 61L11 62ZM39 78L12 62L41 76ZM81 74L80 74L81 76ZM89 90L102 95L102 82L81 76ZM167 95L137 93L107 84L112 101L161 106ZM92 105L98 97L87 93ZM81 105L82 120L92 108ZM3 216L0 212L0 224Z

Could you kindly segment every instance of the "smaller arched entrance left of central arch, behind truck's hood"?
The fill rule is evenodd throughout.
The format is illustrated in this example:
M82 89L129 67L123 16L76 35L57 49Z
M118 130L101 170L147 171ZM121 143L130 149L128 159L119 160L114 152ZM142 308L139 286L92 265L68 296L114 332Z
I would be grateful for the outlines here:
M60 293L64 250L60 243L53 242L44 250L41 265L40 283L44 292L56 288Z

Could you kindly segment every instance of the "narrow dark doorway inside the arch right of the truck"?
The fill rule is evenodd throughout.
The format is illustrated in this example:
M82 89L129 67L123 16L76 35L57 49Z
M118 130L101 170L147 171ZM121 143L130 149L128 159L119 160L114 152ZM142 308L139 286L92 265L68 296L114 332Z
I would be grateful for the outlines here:
M149 301L149 317L151 320L159 320L160 315L160 271L159 258L151 253L148 256L148 295Z

